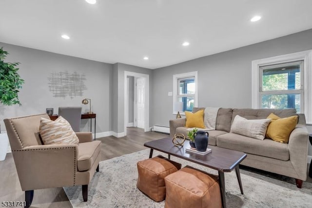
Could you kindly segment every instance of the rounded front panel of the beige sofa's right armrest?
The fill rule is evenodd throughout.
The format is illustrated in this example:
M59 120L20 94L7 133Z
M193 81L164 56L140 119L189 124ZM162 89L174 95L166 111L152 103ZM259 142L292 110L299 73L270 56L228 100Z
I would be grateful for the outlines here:
M308 156L309 133L305 125L297 125L289 137L289 158L298 178L307 179L307 156Z

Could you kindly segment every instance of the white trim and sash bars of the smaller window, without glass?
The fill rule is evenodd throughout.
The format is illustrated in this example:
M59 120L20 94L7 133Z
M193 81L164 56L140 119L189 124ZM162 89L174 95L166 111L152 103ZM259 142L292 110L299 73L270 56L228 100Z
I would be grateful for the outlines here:
M178 85L178 80L179 79L185 79L188 77L194 77L194 82L195 82L195 94L184 94L182 96L178 95L177 93L179 92L179 85ZM175 103L178 101L177 99L180 97L190 97L194 96L194 107L197 107L197 86L198 86L198 79L197 79L197 71L193 72L187 72L183 74L174 74L173 75L173 114L176 115L177 111L175 109ZM184 112L180 112L181 115L185 115Z

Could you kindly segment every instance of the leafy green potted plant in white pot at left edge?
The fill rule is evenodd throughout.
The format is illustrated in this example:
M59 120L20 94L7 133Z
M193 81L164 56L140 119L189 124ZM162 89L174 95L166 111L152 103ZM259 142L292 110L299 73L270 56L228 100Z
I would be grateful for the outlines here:
M4 62L4 59L8 54L9 53L4 51L2 47L0 48L0 104L20 104L18 93L21 85L24 83L24 80L22 80L18 74L19 68L17 68L17 65L20 63ZM0 135L0 143L0 159L3 158L4 160L8 147L8 138L6 133L5 135L4 133Z

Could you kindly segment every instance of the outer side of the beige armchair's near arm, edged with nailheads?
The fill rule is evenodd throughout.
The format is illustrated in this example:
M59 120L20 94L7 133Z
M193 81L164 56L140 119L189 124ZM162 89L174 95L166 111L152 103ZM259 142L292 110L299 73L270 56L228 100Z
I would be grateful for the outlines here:
M22 190L75 185L78 145L38 145L13 150Z

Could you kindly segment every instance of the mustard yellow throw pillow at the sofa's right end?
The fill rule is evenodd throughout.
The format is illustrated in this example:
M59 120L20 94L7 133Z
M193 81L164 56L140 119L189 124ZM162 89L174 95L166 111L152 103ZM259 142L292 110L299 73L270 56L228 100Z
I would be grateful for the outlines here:
M266 137L275 142L288 143L289 136L297 125L298 116L279 118L271 113L267 119L271 119L271 123L268 125Z

